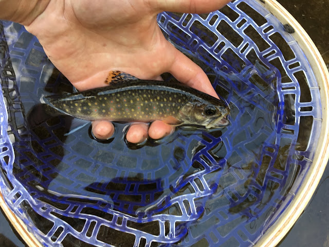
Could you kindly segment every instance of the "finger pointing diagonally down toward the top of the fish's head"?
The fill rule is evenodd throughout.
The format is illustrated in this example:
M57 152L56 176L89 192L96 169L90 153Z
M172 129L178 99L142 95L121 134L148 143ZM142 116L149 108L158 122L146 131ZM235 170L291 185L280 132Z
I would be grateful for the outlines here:
M174 63L169 72L181 83L218 98L206 73L192 60L176 50Z

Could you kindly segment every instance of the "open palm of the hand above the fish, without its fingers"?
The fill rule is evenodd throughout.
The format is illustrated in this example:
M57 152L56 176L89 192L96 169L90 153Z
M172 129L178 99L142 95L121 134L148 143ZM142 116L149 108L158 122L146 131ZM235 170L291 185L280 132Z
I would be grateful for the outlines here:
M50 2L27 29L79 90L103 85L111 69L155 78L172 64L175 49L143 1L62 2Z

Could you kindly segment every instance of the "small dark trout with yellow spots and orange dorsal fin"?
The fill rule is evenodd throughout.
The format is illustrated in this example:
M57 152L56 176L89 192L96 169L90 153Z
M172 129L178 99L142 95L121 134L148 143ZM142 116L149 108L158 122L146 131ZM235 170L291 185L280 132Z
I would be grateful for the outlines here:
M206 129L229 125L228 103L178 82L140 80L109 72L104 87L65 95L44 96L49 114L57 111L83 120L152 122Z

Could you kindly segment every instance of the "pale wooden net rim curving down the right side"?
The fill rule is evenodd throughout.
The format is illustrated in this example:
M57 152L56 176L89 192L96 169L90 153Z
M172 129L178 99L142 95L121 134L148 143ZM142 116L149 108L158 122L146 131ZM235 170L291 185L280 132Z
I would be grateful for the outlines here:
M269 10L281 23L289 24L295 29L295 32L290 35L298 42L314 72L314 76L320 86L322 104L320 139L315 150L315 158L312 166L309 168L295 198L284 210L284 214L273 223L264 235L260 236L260 239L254 245L257 247L275 247L290 231L291 227L293 227L308 205L329 160L329 152L326 152L329 148L329 71L318 48L293 15L276 0L259 0L258 2Z

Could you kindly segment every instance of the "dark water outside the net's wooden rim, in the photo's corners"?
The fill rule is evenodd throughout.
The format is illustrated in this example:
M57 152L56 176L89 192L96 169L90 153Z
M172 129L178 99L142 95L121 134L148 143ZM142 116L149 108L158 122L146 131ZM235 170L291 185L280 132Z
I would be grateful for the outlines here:
M329 64L329 0L279 0L304 27ZM329 246L329 167L324 172L315 195L302 216L280 243L282 246ZM0 214L0 246L24 246Z

